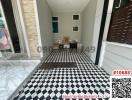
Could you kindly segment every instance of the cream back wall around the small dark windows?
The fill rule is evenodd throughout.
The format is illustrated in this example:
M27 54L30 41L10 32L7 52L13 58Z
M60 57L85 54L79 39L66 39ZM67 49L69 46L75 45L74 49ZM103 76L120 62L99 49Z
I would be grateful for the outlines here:
M73 15L79 14L80 20L73 20ZM54 33L55 41L63 39L63 36L69 36L71 40L81 41L81 14L80 13L54 13L58 16L59 33ZM74 32L73 26L79 26L79 31Z

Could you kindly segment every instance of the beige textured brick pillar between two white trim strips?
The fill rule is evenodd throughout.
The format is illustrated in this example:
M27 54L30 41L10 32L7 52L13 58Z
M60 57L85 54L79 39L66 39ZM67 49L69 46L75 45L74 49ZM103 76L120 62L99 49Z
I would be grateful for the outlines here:
M38 40L39 33L37 32L34 1L21 0L21 7L23 9L23 16L25 20L25 26L29 40L29 48L30 48L31 56L40 56L40 54L37 52L37 47L39 45L39 40Z

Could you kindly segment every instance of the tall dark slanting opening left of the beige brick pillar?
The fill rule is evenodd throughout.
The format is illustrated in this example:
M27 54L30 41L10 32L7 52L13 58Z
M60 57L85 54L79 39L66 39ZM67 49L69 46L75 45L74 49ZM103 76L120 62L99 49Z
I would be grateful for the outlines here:
M14 52L20 53L21 49L20 49L19 36L16 28L11 0L1 0L1 4L7 22L7 26L9 29L10 37L12 40Z

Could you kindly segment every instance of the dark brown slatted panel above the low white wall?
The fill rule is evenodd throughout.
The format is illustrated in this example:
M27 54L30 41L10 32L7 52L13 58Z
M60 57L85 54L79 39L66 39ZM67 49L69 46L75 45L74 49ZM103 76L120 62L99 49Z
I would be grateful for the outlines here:
M112 14L107 40L132 44L132 3L121 7Z

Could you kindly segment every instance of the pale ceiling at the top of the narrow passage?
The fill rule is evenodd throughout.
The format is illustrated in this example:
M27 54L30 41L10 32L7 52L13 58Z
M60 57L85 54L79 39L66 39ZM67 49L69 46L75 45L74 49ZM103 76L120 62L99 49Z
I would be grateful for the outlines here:
M81 12L90 0L47 0L53 12Z

